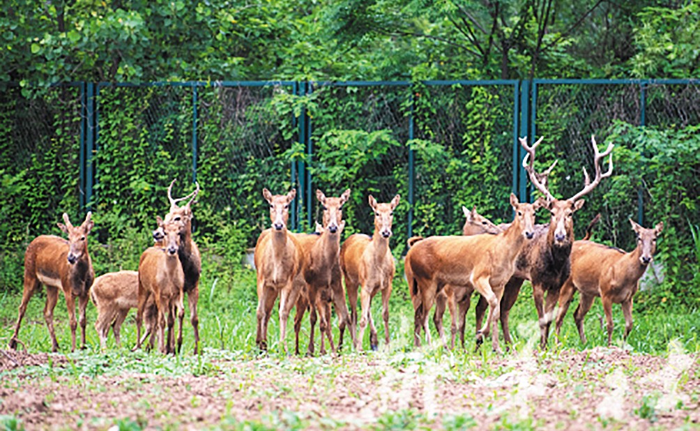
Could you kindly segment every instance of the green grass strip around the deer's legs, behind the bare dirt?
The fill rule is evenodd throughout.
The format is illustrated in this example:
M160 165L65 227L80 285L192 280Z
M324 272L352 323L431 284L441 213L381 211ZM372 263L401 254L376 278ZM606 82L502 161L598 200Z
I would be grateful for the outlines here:
M0 294L0 343L6 344L12 335L13 326L17 318L17 308L20 303L20 293L10 294L3 292ZM48 330L43 321L43 305L45 293L38 292L29 302L29 307L22 321L20 339L27 344L30 352L50 351L50 338ZM474 307L476 297L472 299L472 306L467 313L465 329L465 350L456 349L455 354L473 355L475 348L475 317ZM554 335L554 324L549 335L549 348L575 348L582 350L595 346L605 346L607 333L600 325L600 318L603 316L603 309L599 299L596 299L594 306L586 316L584 327L588 337L587 344L581 344L577 330L573 323L573 311L577 305L577 295L566 315L561 330L561 344L556 344ZM200 281L200 302L198 305L200 315L200 337L202 347L205 350L216 349L221 351L221 355L241 355L256 357L258 350L255 347L255 308L257 297L255 295L255 272L250 269L239 269L230 274L213 274L203 271ZM401 276L394 279L393 293L390 301L389 331L391 334L391 352L405 353L413 350L413 309L409 301L407 285ZM359 311L359 310L358 310ZM295 311L293 311L294 313ZM122 327L123 351L127 351L134 346L136 340L136 325L134 323L135 313L125 321ZM379 334L379 346L384 348L384 323L381 319L381 298L379 295L372 302L372 316ZM87 307L87 352L90 354L99 353L99 338L94 330L96 311L92 303ZM634 326L627 339L627 348L637 353L663 354L668 349L671 341L689 352L700 350L697 334L700 330L700 318L696 313L660 313L633 312ZM302 335L300 341L300 351L305 352L309 341L308 316L304 318L302 325ZM623 346L622 334L624 332L624 318L619 306L613 306L613 320L615 330L612 335L612 342L617 346ZM337 343L338 330L337 318L332 320L334 339ZM183 332L183 352L190 353L194 349L193 330L189 322L189 312L186 311ZM444 351L439 348L440 339L434 330L432 316L430 327L433 332L434 355L443 355ZM444 316L445 334L449 341L449 313ZM70 329L66 305L61 295L55 309L55 328L59 341L60 351L68 353L70 351ZM510 329L514 339L514 351L520 351L525 347L536 347L539 339L539 328L537 323L537 313L532 300L532 290L528 283L523 286L517 303L510 313ZM79 332L79 329L78 329ZM365 330L363 348L369 349L370 330ZM502 334L501 334L502 337ZM282 355L279 344L279 318L274 315L269 322L268 331L269 351L271 355ZM318 326L316 327L316 352L318 352ZM290 316L287 327L286 340L290 351L294 348L293 316ZM502 338L501 338L502 340ZM349 334L346 334L344 350L350 348ZM115 351L113 335L110 333L108 339L109 352ZM480 349L477 355L490 349ZM463 352L463 353L462 353ZM84 352L85 353L85 352ZM150 358L149 355L144 355ZM156 356L158 358L158 356ZM186 356L183 356L186 358Z

